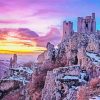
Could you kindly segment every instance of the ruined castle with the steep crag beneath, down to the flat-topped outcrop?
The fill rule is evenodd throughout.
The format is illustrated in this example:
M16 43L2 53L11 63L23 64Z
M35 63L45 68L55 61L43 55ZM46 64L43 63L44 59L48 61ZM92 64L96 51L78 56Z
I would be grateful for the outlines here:
M80 65L81 68L88 69L87 65L91 65L88 52L100 54L100 31L96 31L95 13L85 18L78 17L77 32L73 30L73 22L64 21L61 43L58 48L48 43L47 51L41 54L40 62L45 63L46 60L50 60L59 62L63 66Z

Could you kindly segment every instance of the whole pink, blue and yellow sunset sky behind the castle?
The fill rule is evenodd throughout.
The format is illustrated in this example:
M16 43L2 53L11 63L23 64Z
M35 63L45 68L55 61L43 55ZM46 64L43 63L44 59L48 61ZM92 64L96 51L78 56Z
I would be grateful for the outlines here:
M100 29L100 0L0 0L0 28L29 28L39 35L30 39L23 34L27 39L22 39L21 33L1 33L0 50L45 50L47 41L56 43L60 39L64 20L73 21L76 31L77 17L92 12L96 13L97 29Z

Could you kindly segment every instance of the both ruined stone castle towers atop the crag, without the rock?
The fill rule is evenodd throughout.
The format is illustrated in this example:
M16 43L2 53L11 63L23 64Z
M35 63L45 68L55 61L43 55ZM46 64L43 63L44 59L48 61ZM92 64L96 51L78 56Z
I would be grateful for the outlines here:
M77 20L77 32L78 33L95 33L96 32L96 19L95 19L95 13L92 13L92 16L86 16L78 17ZM69 35L72 35L74 33L73 31L73 22L71 21L64 21L63 22L63 40L68 37Z

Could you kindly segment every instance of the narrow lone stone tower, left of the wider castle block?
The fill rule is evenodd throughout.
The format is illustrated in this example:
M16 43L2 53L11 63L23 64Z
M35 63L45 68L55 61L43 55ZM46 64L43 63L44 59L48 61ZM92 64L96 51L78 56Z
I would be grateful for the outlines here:
M66 38L69 36L69 35L72 35L73 34L73 22L69 21L69 22L66 22L64 21L63 22L63 38L62 40L66 40Z

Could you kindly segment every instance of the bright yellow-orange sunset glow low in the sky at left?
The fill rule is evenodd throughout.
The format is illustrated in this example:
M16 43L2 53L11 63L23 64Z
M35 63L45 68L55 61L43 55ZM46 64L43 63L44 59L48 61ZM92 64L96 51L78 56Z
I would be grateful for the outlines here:
M0 53L37 53L46 50L37 46L36 41L21 39L20 34L8 32L0 40Z

